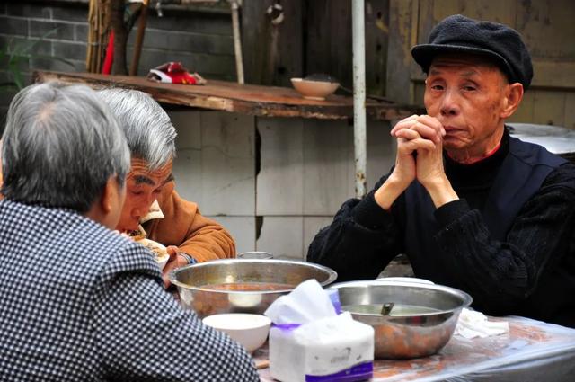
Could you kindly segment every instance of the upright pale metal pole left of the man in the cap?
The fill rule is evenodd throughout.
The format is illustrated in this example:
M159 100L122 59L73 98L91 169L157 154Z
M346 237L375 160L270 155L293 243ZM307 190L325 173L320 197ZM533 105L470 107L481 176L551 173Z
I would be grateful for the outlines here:
M356 164L356 197L366 195L366 28L364 0L351 1L353 35L353 148Z

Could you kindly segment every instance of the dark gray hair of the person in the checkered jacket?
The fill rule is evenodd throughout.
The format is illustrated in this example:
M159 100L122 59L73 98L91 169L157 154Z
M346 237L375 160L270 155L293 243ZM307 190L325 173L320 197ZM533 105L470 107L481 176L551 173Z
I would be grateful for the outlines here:
M2 147L9 200L87 212L129 150L113 113L85 85L33 84L10 103Z

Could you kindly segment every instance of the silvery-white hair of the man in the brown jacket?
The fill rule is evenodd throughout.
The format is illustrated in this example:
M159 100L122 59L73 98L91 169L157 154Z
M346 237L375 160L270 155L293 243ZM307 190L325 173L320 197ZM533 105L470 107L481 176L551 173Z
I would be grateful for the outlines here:
M104 89L99 92L124 130L133 157L143 159L147 167L158 170L176 155L176 129L154 99L137 90Z

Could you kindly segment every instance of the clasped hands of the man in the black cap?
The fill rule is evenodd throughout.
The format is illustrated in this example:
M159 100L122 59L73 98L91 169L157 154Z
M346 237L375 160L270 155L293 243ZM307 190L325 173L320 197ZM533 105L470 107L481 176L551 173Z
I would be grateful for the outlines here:
M390 209L416 179L429 192L436 207L458 199L443 168L446 131L439 120L429 115L412 115L399 121L391 134L397 138L395 167L374 195L377 204Z

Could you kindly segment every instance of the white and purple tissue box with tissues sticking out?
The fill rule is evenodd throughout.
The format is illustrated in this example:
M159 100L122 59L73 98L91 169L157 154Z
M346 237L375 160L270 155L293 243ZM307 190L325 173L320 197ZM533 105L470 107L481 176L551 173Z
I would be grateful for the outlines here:
M315 280L300 284L266 310L270 329L270 374L284 382L358 381L371 378L373 327L337 315Z

